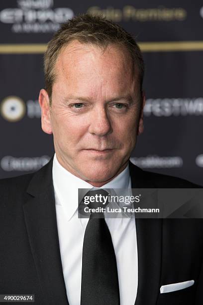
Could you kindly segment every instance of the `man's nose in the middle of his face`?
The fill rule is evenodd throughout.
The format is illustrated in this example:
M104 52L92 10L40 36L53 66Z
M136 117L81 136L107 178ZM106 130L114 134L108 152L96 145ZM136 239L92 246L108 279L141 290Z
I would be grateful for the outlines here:
M111 133L111 124L105 108L98 107L97 109L94 109L90 121L89 133L100 137Z

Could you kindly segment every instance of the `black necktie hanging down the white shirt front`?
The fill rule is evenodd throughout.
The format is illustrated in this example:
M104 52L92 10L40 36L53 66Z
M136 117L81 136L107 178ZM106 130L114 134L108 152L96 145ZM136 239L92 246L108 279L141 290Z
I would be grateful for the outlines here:
M108 193L102 189L88 195ZM103 205L101 205L103 206ZM95 207L89 204L89 208ZM83 242L81 305L119 305L115 252L103 214L91 213Z

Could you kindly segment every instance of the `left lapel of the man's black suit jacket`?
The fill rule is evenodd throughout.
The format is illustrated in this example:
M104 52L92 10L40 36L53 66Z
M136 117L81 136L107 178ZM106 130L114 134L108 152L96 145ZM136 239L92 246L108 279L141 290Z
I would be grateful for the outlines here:
M23 205L32 255L44 296L44 303L68 305L63 277L54 189L52 162L33 175Z

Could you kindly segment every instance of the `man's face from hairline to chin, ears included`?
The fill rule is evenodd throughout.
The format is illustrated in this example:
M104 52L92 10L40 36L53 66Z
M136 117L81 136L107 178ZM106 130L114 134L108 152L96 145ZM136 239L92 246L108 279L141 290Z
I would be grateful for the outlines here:
M101 186L125 168L142 125L136 72L120 47L103 52L75 40L62 48L55 73L51 107L45 90L39 96L42 129L53 133L62 166Z

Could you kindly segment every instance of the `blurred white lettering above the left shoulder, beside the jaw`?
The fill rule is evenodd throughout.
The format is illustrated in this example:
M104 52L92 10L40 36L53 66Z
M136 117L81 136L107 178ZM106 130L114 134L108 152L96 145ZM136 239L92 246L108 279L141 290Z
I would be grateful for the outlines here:
M14 157L5 155L0 161L0 166L4 171L29 171L38 170L50 160L50 156L39 157Z

